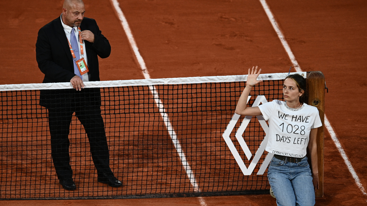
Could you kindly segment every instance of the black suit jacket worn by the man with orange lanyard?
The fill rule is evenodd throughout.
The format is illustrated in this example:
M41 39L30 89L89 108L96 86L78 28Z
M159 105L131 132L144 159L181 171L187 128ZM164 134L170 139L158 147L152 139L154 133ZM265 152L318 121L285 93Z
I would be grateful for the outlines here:
M85 41L84 51L88 60L89 81L99 81L98 57L107 58L111 53L109 41L102 35L94 19L83 18L80 29L94 33L94 43ZM73 57L68 39L61 24L60 16L43 26L36 43L36 59L38 67L45 74L43 83L70 82L75 76ZM41 90L40 104L46 108L63 108L75 103L87 102L88 105L100 105L99 88Z

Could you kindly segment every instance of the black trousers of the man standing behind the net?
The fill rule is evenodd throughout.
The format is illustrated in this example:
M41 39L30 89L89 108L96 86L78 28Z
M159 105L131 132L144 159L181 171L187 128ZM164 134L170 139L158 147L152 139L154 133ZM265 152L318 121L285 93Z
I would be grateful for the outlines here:
M48 125L51 133L51 155L59 180L72 178L69 155L69 128L72 114L83 124L90 143L90 152L97 173L110 173L109 151L105 127L99 106L76 106L48 109Z

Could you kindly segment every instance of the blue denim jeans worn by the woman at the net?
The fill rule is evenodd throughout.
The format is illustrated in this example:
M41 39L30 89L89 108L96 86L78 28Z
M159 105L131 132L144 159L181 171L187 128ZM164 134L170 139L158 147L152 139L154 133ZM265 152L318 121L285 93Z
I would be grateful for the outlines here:
M278 206L315 205L315 190L307 157L298 163L285 163L273 157L268 168L268 179Z

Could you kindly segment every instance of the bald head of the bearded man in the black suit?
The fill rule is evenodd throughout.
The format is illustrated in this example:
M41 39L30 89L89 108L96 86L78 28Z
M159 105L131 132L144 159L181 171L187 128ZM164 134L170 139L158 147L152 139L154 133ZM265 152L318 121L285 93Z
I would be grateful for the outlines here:
M70 27L79 27L86 12L83 1L65 0L62 7L62 22Z

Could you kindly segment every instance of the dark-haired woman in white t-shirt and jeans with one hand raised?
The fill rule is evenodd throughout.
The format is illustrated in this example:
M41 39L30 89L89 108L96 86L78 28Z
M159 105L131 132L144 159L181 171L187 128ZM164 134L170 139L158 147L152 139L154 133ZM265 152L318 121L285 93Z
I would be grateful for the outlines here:
M319 188L317 169L317 128L322 126L319 111L307 105L306 80L291 74L283 83L283 98L258 107L247 107L247 98L261 69L248 69L246 87L236 106L236 113L247 116L262 115L269 124L266 151L273 153L268 179L278 206L315 205L315 191ZM312 173L306 157L310 152Z

